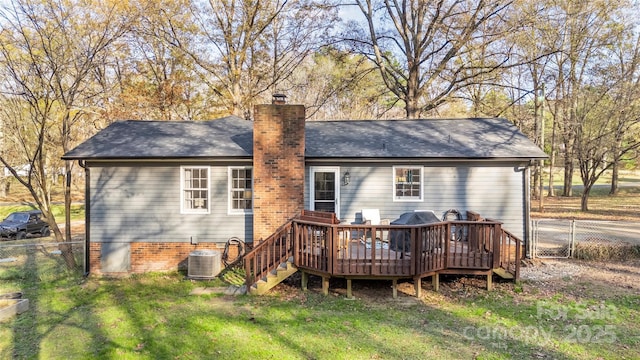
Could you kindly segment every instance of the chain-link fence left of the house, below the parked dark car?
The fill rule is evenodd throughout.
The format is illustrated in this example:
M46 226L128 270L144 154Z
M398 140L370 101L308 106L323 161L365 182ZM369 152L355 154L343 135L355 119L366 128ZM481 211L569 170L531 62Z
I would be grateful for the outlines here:
M47 241L48 240L48 241ZM36 275L51 279L85 269L84 241L51 242L50 239L0 242L0 278Z

